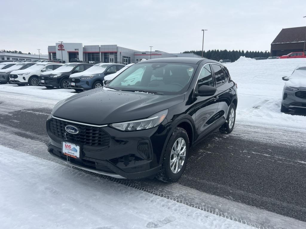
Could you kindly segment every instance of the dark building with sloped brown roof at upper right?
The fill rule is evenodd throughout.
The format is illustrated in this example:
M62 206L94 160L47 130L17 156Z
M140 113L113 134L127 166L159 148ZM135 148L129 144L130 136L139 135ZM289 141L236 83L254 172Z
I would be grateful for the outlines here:
M306 26L282 29L271 43L271 56L302 52L306 39Z

